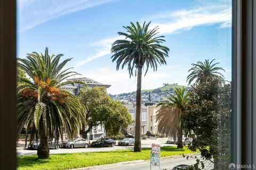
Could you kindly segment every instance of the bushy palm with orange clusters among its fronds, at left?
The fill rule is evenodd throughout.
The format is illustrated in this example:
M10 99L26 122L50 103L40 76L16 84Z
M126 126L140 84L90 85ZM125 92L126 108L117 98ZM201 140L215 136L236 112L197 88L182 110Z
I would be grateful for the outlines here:
M26 126L31 131L30 141L39 135L37 149L39 159L49 158L48 142L63 136L63 132L74 136L77 127L85 123L83 104L73 94L60 87L75 82L62 82L77 75L69 69L62 70L71 59L60 62L62 54L51 56L46 47L44 54L33 52L26 59L18 59L18 69L27 78L20 77L18 85L18 132Z

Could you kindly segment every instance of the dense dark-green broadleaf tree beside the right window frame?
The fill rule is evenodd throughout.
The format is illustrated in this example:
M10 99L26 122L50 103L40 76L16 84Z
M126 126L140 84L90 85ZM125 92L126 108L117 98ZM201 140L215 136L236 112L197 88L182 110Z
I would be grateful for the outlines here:
M231 84L215 79L196 85L189 93L184 125L196 134L189 149L201 151L214 169L226 169L230 163Z

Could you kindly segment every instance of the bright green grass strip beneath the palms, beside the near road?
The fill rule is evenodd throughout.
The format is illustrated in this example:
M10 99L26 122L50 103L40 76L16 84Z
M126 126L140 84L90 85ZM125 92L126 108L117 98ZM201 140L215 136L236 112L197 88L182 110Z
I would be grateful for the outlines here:
M113 164L131 160L149 160L151 148L142 149L142 152L122 149L103 152L82 152L82 153L62 153L50 155L49 159L38 159L37 155L18 157L18 170L37 169L72 169L103 164ZM161 147L161 157L181 155L182 153L195 153L187 148L177 149L177 147Z

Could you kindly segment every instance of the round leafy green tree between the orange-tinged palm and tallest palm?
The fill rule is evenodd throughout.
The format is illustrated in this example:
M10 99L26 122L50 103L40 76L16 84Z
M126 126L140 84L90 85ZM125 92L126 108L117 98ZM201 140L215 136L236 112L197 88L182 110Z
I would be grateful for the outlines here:
M116 135L132 123L128 110L121 102L111 99L105 87L86 87L78 98L86 109L87 129L82 131L85 137L93 126L104 125L108 135Z

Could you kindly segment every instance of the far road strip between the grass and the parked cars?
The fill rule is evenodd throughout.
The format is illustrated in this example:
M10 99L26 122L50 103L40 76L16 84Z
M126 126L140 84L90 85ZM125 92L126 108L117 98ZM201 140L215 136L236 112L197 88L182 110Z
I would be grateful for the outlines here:
M152 143L158 143L161 144L161 146L166 146L166 145L174 145L175 144L166 144L166 140L148 140L148 141L142 141L141 147L142 148L151 148ZM74 148L74 149L69 149L69 148L60 148L60 149L50 149L50 154L56 154L56 153L75 153L75 152L97 152L97 151L110 151L110 150L117 150L117 149L133 149L133 146L118 146L115 145L115 147L103 147L103 148ZM27 148L23 147L17 147L17 156L22 156L22 155L36 155L37 150L30 150Z

